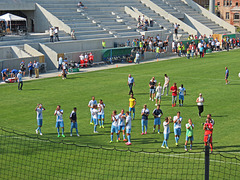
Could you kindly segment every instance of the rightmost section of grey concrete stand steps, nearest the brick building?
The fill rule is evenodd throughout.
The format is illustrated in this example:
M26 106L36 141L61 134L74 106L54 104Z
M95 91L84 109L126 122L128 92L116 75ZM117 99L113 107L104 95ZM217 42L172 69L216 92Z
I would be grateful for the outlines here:
M188 6L181 0L152 0L157 5L161 6L162 8L165 8L166 5L163 6L163 4L167 4L169 7L172 7L172 9L175 10L175 13L172 12L172 9L165 8L165 10L169 13L173 13L172 15L176 16L177 18L181 19L183 14L187 14L197 20L198 22L204 24L208 28L210 28L214 34L225 34L225 33L231 33L224 29L222 26L216 24L215 22L211 21L207 17L203 16L196 10L194 10L191 6ZM181 13L180 13L181 12ZM181 14L181 15L179 15Z

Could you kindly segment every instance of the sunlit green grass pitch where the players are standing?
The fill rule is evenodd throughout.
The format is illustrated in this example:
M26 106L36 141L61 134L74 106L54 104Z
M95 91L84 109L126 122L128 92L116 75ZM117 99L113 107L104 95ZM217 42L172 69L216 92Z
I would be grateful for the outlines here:
M234 50L207 54L203 59L194 58L188 60L186 58L177 58L136 66L72 74L69 75L66 80L62 80L59 77L39 79L24 82L23 91L17 90L17 84L1 85L0 127L6 127L8 130L24 132L28 136L36 137L35 129L37 128L37 121L34 109L38 103L42 103L46 108L46 111L43 112L43 136L40 137L42 139L69 144L88 144L95 147L102 146L104 148L115 147L116 149L129 148L134 151L141 151L143 149L146 152L174 151L181 153L184 152L185 124L187 120L191 118L195 125L192 152L202 152L204 148L204 131L201 123L205 121L206 115L211 113L216 123L213 132L214 151L238 152L240 147L238 138L238 124L240 121L238 113L240 109L238 98L240 92L240 79L238 77L238 73L240 72L239 55L240 50ZM229 85L225 85L225 66L227 66L230 71ZM122 141L116 143L115 134L114 142L109 144L111 112L116 109L119 113L122 108L125 109L125 111L128 110L129 89L127 86L127 77L129 73L132 74L136 82L133 90L137 101L136 119L132 122L131 147L127 147ZM187 90L183 107L171 107L171 94L162 97L161 109L164 113L163 117L173 117L177 111L180 111L183 117L182 135L178 147L175 146L173 124L170 124L171 134L168 140L170 150L160 148L163 141L162 126L160 135L152 133L153 116L151 113L155 108L155 102L149 101L148 87L149 80L153 76L155 76L157 82L163 84L165 73L170 77L170 85L174 82L177 83L178 87L184 84ZM195 102L200 92L205 99L202 118L199 118L197 115L198 109ZM95 96L97 101L103 99L103 102L106 104L105 128L98 128L98 134L93 133L93 126L89 124L90 112L87 105L91 96ZM64 110L65 138L58 138L55 128L56 118L53 114L58 104L60 104ZM147 135L141 135L140 113L144 104L147 104L150 110ZM69 136L69 115L73 107L77 107L78 109L77 116L80 137L76 136L75 130L73 130L73 137ZM122 139L122 133L120 137ZM21 142L24 143L23 140L21 140ZM7 147L5 148L5 145L7 146L7 144L2 143L0 150L6 150ZM17 147L18 146L15 148ZM41 149L41 147L35 148ZM45 151L44 154L50 153L50 150L48 151L46 148L43 148L43 150ZM22 151L24 151L24 149ZM59 150L59 152L61 152L61 150ZM17 156L14 154L14 151L10 151L9 153L11 154L10 157ZM42 156L44 156L44 154ZM53 156L55 157L54 153ZM69 158L71 157L69 156ZM141 155L135 155L134 158L141 158ZM107 166L108 164L106 163L105 165ZM31 171L31 169L27 168L26 170ZM48 175L46 174L46 179L48 179L47 177ZM97 177L90 177L88 175L83 177L97 179ZM98 176L98 178L106 179L104 175ZM141 179L141 177L139 178ZM158 177L153 176L152 179L154 178L157 179ZM184 177L182 178L184 179Z

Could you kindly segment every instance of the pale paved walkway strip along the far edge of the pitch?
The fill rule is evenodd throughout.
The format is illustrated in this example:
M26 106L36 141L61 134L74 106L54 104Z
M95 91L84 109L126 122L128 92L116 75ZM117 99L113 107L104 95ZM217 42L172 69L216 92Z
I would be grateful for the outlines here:
M169 56L169 57L164 57L164 58L159 58L159 59L146 60L146 61L141 62L140 64L152 63L152 62L157 62L157 61L166 61L166 60L175 59L177 57L178 57L177 55L174 55L174 56ZM69 73L68 75L87 73L87 72L104 70L104 69L113 69L113 68L119 68L119 67L124 67L124 66L137 66L137 65L138 64L135 64L135 63L109 64L109 65L103 65L103 66L97 66L97 67L82 68L82 69L80 69L80 72L73 72L73 73ZM32 81L32 80L43 79L43 78L57 77L60 74L61 74L60 71L58 72L57 70L52 70L52 71L48 71L47 73L40 74L39 78L30 78L28 76L23 77L23 81ZM34 75L33 75L33 77L34 77ZM5 84L5 83L1 82L0 84Z

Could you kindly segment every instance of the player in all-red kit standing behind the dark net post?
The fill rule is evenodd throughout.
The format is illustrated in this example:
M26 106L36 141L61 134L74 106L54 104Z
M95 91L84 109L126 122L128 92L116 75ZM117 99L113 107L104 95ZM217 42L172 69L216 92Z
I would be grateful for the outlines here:
M213 133L213 125L210 122L210 118L207 118L207 122L203 126L204 133L204 144L207 146L209 143L211 148L211 153L213 152L213 145L212 145L212 133Z

